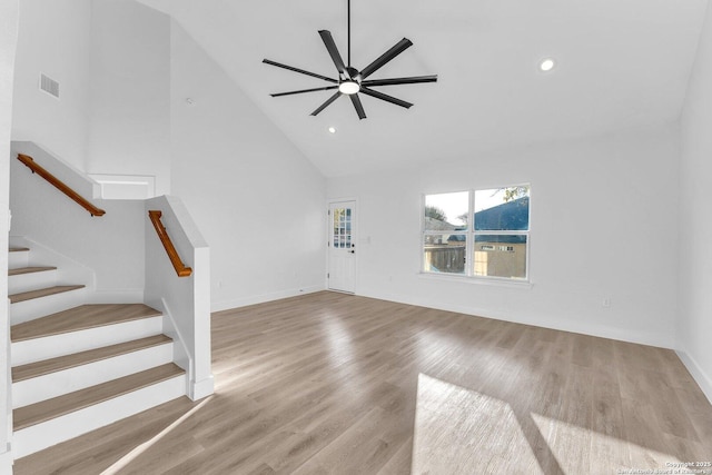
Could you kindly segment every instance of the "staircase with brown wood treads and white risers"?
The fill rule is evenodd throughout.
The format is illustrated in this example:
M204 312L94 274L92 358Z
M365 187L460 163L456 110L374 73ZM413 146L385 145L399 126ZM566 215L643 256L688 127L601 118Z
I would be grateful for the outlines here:
M142 304L86 305L83 285L9 249L12 453L23 457L186 395L164 316Z

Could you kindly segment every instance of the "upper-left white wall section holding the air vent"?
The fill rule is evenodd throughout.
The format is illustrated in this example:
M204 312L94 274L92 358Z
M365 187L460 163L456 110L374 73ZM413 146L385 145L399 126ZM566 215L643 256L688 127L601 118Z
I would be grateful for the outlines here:
M12 139L43 145L85 169L89 110L90 0L22 0ZM40 72L60 100L39 89Z

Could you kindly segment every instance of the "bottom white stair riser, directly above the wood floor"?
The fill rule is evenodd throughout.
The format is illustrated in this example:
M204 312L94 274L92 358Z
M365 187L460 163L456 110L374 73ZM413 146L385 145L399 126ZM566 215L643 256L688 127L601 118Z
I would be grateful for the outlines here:
M23 428L13 433L12 455L14 458L24 457L185 394L186 376L181 375Z

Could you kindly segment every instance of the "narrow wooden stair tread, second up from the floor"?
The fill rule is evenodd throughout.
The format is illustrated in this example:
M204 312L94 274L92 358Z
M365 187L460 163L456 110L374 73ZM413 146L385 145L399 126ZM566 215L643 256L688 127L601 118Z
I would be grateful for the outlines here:
M89 349L86 352L75 353L72 355L59 356L57 358L17 366L12 368L12 382L18 383L37 376L43 376L62 369L73 368L115 356L138 352L140 349L165 345L171 342L172 339L166 335L155 335L147 338L120 343L118 345L105 346L102 348Z

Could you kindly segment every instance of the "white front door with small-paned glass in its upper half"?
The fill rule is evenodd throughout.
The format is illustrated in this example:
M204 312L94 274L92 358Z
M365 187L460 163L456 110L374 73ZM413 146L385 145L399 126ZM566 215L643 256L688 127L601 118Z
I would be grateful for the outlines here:
M328 219L328 288L353 294L356 290L356 202L330 202Z

